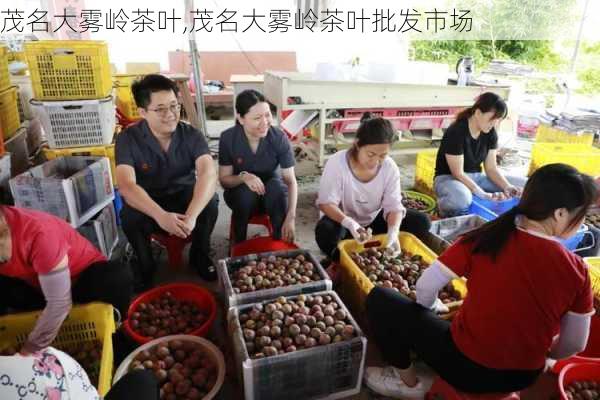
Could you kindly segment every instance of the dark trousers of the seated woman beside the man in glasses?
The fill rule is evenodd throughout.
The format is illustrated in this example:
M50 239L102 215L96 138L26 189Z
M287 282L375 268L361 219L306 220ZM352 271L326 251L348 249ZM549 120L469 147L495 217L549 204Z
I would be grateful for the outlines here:
M246 240L248 221L257 212L266 212L273 226L273 238L281 239L281 227L287 214L288 193L283 180L276 176L263 182L265 195L259 196L241 184L232 189L225 189L223 197L231 208L233 218L234 242Z

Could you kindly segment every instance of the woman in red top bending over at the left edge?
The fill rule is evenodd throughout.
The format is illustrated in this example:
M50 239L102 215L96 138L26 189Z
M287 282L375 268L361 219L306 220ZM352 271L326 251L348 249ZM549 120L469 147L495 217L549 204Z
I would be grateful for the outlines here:
M0 206L0 313L44 309L22 354L52 343L71 302L102 301L125 315L132 294L129 268L107 261L65 221Z

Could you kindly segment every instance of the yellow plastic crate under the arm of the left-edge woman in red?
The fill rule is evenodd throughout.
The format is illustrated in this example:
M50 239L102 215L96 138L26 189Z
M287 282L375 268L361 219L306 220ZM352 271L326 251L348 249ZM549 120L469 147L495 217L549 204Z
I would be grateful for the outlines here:
M41 311L0 317L0 348L20 347L35 326ZM75 306L63 322L52 346L61 348L81 342L101 341L102 358L98 393L104 396L110 389L113 373L112 334L115 332L113 308L108 304L90 303Z

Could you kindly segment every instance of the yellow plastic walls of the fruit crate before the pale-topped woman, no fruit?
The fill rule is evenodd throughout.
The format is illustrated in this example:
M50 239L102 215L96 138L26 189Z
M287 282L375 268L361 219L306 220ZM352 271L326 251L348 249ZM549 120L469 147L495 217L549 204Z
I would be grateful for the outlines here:
M385 246L387 243L387 235L376 235L374 241ZM402 251L413 255L420 255L423 261L431 264L437 259L437 254L431 251L423 242L417 239L416 236L408 232L400 232L400 247ZM340 250L340 286L337 291L342 296L342 299L348 304L356 315L364 315L365 302L371 289L375 287L373 282L360 270L358 265L354 263L350 257L351 253L361 252L365 249L364 246L358 244L355 240L343 240L338 244ZM452 281L453 288L461 294L462 298L467 295L467 286L461 279ZM453 310L451 310L452 312Z

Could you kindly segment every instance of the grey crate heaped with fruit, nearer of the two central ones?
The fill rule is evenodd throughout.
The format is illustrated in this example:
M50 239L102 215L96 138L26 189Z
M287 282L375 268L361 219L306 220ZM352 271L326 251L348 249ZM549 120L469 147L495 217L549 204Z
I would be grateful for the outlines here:
M233 307L228 320L246 400L360 391L367 340L335 292Z

